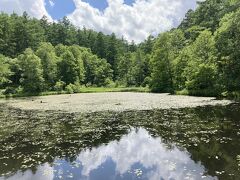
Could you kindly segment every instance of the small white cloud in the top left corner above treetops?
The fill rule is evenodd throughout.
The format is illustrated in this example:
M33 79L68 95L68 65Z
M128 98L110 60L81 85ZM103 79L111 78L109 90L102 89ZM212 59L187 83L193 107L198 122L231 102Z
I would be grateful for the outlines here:
M52 20L45 8L44 0L0 0L0 11L6 13L22 14L26 11L30 16L38 19L46 15L49 20Z

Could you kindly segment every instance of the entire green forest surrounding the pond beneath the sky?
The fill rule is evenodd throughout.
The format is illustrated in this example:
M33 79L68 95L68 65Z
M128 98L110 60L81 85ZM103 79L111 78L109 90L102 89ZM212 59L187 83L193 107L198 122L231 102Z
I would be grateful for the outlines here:
M240 90L240 2L206 0L181 24L144 42L79 29L64 17L0 14L3 94L147 87L152 92L227 96Z

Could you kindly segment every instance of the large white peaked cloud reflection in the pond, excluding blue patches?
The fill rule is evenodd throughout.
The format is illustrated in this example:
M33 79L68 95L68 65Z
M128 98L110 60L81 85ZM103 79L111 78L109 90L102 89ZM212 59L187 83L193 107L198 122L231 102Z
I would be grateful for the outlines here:
M78 156L82 164L82 175L91 178L94 171L104 168L106 162L115 165L116 179L125 179L129 174L138 179L216 179L205 176L205 168L195 163L190 154L177 147L169 149L161 138L153 138L145 129L132 130L119 142L113 141ZM106 177L107 178L107 177ZM133 178L133 177L132 177ZM131 179L132 179L131 178Z

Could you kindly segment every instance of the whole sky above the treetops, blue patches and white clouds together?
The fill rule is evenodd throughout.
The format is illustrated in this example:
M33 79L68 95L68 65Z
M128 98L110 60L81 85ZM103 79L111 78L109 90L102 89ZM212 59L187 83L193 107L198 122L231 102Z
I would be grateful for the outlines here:
M64 16L79 28L115 33L139 43L177 27L197 0L0 0L0 11L49 21ZM134 4L134 5L133 5Z

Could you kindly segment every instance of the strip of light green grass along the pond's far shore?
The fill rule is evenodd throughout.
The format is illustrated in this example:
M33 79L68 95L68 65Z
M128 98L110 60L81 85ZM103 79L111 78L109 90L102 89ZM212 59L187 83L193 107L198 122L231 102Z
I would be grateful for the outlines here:
M146 87L82 87L78 93L104 93L104 92L150 92ZM29 97L29 96L48 96L57 94L73 94L68 91L46 91L41 93L18 93L4 95L4 89L0 90L0 98L9 97Z

